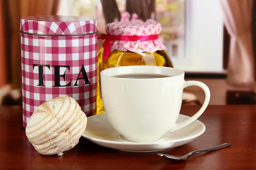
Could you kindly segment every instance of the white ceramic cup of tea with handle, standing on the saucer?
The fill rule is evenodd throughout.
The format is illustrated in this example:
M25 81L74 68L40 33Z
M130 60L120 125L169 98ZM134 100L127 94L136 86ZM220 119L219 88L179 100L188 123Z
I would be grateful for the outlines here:
M164 75L160 78L130 78L132 75ZM103 106L111 126L129 141L150 142L198 119L210 101L207 85L185 81L184 71L163 66L121 66L101 71ZM124 76L124 77L120 77ZM199 86L205 100L200 110L176 124L183 89Z

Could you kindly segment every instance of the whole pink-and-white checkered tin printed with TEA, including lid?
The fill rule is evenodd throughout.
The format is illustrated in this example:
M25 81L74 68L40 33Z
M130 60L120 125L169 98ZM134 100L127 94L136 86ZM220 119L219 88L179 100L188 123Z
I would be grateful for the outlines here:
M23 126L40 104L73 97L87 116L96 107L97 20L44 15L20 19Z

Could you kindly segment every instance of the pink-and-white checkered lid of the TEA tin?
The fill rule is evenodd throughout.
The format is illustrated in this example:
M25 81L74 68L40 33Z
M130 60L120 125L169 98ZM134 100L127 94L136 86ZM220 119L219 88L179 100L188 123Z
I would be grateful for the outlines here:
M83 16L38 15L20 18L20 32L40 35L97 33L97 19Z

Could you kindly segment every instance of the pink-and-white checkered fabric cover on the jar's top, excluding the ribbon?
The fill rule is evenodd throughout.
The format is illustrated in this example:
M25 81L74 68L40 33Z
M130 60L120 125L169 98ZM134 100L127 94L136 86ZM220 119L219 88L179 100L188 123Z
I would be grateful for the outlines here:
M158 22L112 22L107 24L106 33L108 35L157 35L161 31L161 24ZM159 40L149 41L119 41L112 40L110 42L111 51L132 51L135 53L150 52L154 53L157 50L166 50L164 44Z

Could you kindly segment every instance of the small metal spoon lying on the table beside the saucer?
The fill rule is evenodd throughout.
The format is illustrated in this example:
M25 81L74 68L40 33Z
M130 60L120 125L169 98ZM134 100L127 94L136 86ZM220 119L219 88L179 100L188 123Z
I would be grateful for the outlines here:
M167 155L167 154L162 154L162 153L158 153L157 155L159 155L161 157L164 157L165 159L168 159L170 161L185 161L190 155L193 155L195 153L219 150L219 149L222 149L222 148L226 148L228 146L231 146L231 144L230 143L225 143L225 144L222 144L222 145L219 145L219 146L215 146L215 147L212 147L212 148L195 150L195 151L189 152L186 155L183 155L181 157L176 157L176 156L173 156L173 155Z

